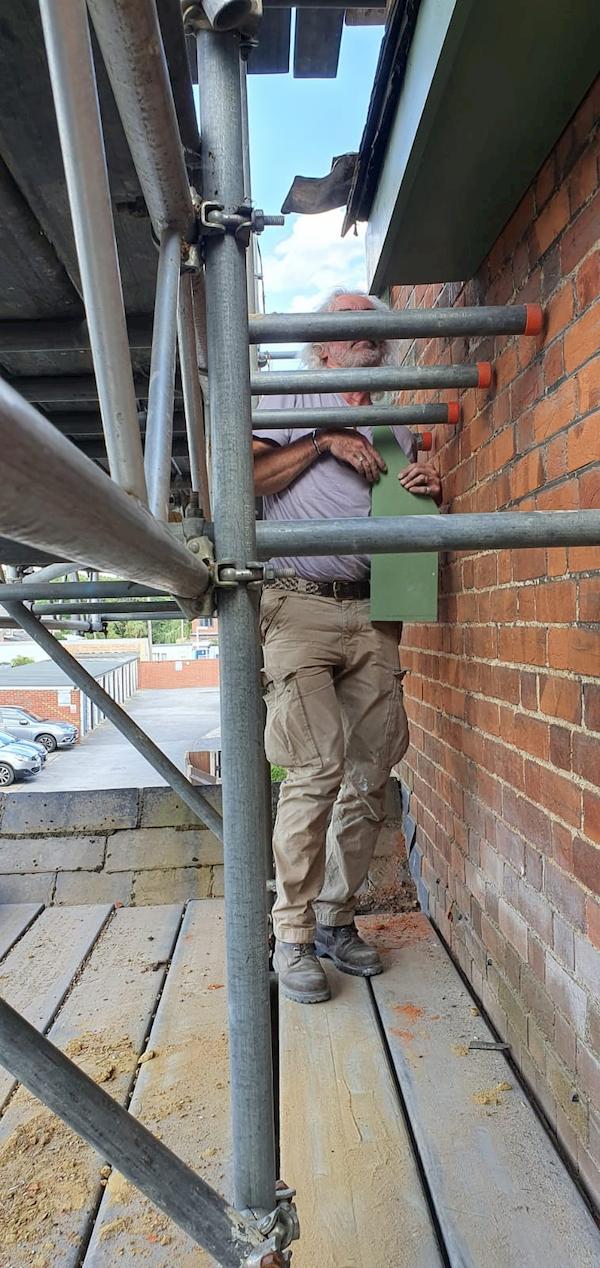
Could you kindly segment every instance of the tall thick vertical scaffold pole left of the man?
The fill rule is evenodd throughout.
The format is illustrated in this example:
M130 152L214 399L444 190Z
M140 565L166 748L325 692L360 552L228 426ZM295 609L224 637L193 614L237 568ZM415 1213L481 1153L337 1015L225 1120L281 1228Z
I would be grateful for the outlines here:
M198 30L197 38L203 191L231 213L244 199L240 43L236 34L213 30ZM205 294L216 555L245 566L256 557L246 261L232 232L205 240ZM221 591L218 620L235 1203L271 1210L265 781L258 621L246 586Z

